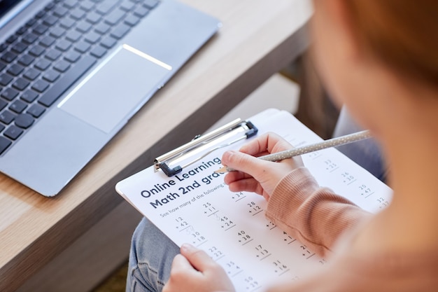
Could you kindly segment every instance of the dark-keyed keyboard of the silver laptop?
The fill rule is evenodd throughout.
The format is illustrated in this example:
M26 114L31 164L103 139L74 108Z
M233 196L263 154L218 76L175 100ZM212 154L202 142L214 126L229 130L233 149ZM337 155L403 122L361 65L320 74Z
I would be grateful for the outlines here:
M0 44L0 155L158 0L54 0Z

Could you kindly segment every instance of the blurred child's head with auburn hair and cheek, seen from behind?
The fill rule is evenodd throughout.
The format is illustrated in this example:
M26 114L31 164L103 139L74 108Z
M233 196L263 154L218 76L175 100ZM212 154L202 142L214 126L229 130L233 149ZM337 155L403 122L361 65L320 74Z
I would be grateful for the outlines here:
M334 100L366 127L373 127L370 113L397 102L381 99L383 83L438 91L438 1L315 0L314 6L318 71Z

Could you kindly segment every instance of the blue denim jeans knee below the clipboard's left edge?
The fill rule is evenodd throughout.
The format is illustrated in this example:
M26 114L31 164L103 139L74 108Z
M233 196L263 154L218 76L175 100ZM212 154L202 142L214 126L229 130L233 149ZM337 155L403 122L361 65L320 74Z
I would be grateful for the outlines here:
M162 291L179 247L143 218L132 237L127 292Z

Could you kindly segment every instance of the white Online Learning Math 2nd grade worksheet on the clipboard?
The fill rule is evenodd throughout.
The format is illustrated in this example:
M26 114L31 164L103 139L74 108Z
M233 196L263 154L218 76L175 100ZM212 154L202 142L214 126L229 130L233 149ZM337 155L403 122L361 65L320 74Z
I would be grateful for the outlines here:
M269 109L248 120L258 128L257 136L276 132L295 147L322 141L285 111ZM222 167L224 151L246 143L213 152L175 176L148 167L116 186L125 200L178 246L187 242L206 251L225 269L236 291L299 281L327 264L265 218L267 202L262 196L230 192L224 174L215 173ZM320 186L363 209L377 212L389 204L392 190L336 149L308 153L302 159Z

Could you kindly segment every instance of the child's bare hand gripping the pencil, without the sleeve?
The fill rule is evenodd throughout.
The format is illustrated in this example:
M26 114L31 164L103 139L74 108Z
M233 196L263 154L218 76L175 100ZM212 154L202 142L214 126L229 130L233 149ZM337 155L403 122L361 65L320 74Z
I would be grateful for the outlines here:
M249 191L263 195L269 200L277 183L297 167L302 167L301 157L270 162L256 157L293 148L277 134L267 133L250 141L239 151L227 151L222 155L222 164L236 169L225 176L225 183L232 192Z

